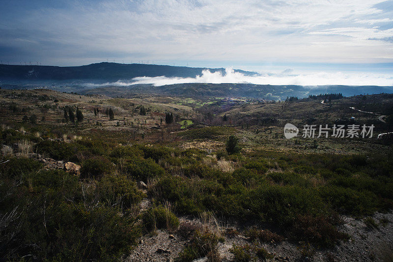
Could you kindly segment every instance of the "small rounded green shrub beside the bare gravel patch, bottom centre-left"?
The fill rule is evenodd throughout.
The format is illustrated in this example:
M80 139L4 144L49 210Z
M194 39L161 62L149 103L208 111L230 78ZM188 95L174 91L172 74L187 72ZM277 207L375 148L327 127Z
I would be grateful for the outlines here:
M175 230L179 226L179 219L164 206L151 206L142 214L143 227L147 232L166 228Z

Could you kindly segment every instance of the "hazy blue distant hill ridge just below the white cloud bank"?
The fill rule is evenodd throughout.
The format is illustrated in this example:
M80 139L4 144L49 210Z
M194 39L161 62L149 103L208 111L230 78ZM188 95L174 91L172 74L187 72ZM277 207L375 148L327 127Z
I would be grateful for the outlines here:
M151 84L126 87L98 87L75 89L81 94L105 94L112 97L133 97L141 94L169 95L177 97L248 97L267 100L285 100L286 97L305 98L321 93L342 93L344 96L359 94L393 93L393 87L379 86L296 86L255 84L206 84L189 83L154 87Z

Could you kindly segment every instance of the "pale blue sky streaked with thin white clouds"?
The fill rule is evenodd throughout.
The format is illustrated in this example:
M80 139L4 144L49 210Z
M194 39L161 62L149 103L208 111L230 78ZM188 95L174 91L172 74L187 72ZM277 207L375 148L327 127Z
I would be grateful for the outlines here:
M0 6L2 63L108 60L393 75L393 0L0 0Z

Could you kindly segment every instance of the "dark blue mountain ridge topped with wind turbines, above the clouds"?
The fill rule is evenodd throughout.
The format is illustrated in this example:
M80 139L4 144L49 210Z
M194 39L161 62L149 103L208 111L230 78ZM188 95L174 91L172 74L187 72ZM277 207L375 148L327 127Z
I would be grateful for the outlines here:
M134 77L195 77L202 70L209 69L225 75L225 68L201 68L186 66L169 66L155 64L120 64L94 63L82 66L44 66L44 65L0 65L0 79L17 80L71 80L91 79L117 81ZM255 72L235 70L245 75L255 75Z

